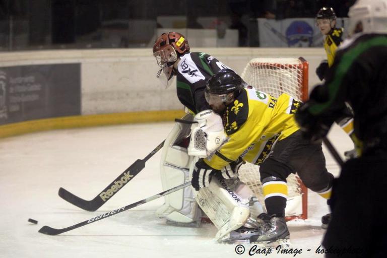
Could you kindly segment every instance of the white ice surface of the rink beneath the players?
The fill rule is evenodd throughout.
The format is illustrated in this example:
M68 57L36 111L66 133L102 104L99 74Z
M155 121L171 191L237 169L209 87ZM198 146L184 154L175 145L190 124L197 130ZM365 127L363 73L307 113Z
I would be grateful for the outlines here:
M90 225L48 236L38 233L43 225L64 228L96 215L132 204L162 191L158 172L160 153L135 179L97 212L83 211L58 197L59 187L91 200L135 160L143 159L160 144L172 123L103 126L59 130L0 139L0 257L247 257L235 253L236 245L214 240L216 228L168 226L154 216L163 204L155 200ZM334 126L329 137L342 154L353 147ZM339 167L327 154L328 170ZM326 201L309 191L309 219L289 222L296 257L315 254L324 230L320 218L328 213ZM38 225L28 222L38 220ZM307 251L310 249L310 251ZM268 254L267 257L293 257ZM255 254L253 256L264 256Z

